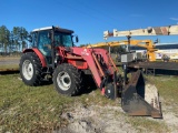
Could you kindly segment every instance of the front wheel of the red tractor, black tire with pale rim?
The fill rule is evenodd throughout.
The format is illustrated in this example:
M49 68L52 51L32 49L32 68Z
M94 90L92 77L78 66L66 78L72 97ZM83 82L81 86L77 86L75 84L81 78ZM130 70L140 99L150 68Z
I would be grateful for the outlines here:
M53 72L53 84L58 93L77 95L82 86L81 71L69 63L59 64Z

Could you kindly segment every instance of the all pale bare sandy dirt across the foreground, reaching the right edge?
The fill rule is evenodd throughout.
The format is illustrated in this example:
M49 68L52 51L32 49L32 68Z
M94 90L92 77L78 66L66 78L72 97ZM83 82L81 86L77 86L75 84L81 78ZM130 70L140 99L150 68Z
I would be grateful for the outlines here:
M131 122L128 122L130 116L125 114L120 106L83 106L77 104L70 111L62 113L61 117L66 119L69 124L53 131L53 133L138 133L150 131L147 126L135 126ZM152 117L140 117L140 120L157 122L162 126L168 126L168 131L172 133L178 132L178 117L166 110L162 120Z

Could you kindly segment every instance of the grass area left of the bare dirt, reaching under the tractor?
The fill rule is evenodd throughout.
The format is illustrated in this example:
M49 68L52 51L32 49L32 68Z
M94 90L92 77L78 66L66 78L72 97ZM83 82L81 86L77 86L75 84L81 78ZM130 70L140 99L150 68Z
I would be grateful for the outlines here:
M105 105L113 102L101 96L99 91L95 92L98 96L82 94L70 98L58 94L52 84L27 86L18 78L19 74L0 75L2 132L48 132L67 124L61 114L73 103Z

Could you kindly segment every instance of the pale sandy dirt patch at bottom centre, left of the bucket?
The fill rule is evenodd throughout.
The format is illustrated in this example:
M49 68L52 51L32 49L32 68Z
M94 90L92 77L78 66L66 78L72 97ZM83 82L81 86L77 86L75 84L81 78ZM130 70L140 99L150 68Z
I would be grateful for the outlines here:
M68 120L67 127L55 133L135 133L131 124L126 123L121 108L118 106L82 106L76 105L62 117Z

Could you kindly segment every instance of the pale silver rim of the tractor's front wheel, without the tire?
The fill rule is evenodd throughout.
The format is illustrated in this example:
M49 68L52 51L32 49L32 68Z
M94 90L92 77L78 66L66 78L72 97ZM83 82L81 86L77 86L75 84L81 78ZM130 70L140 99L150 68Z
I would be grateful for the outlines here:
M71 78L67 72L62 71L57 76L57 83L61 90L67 91L71 85Z

